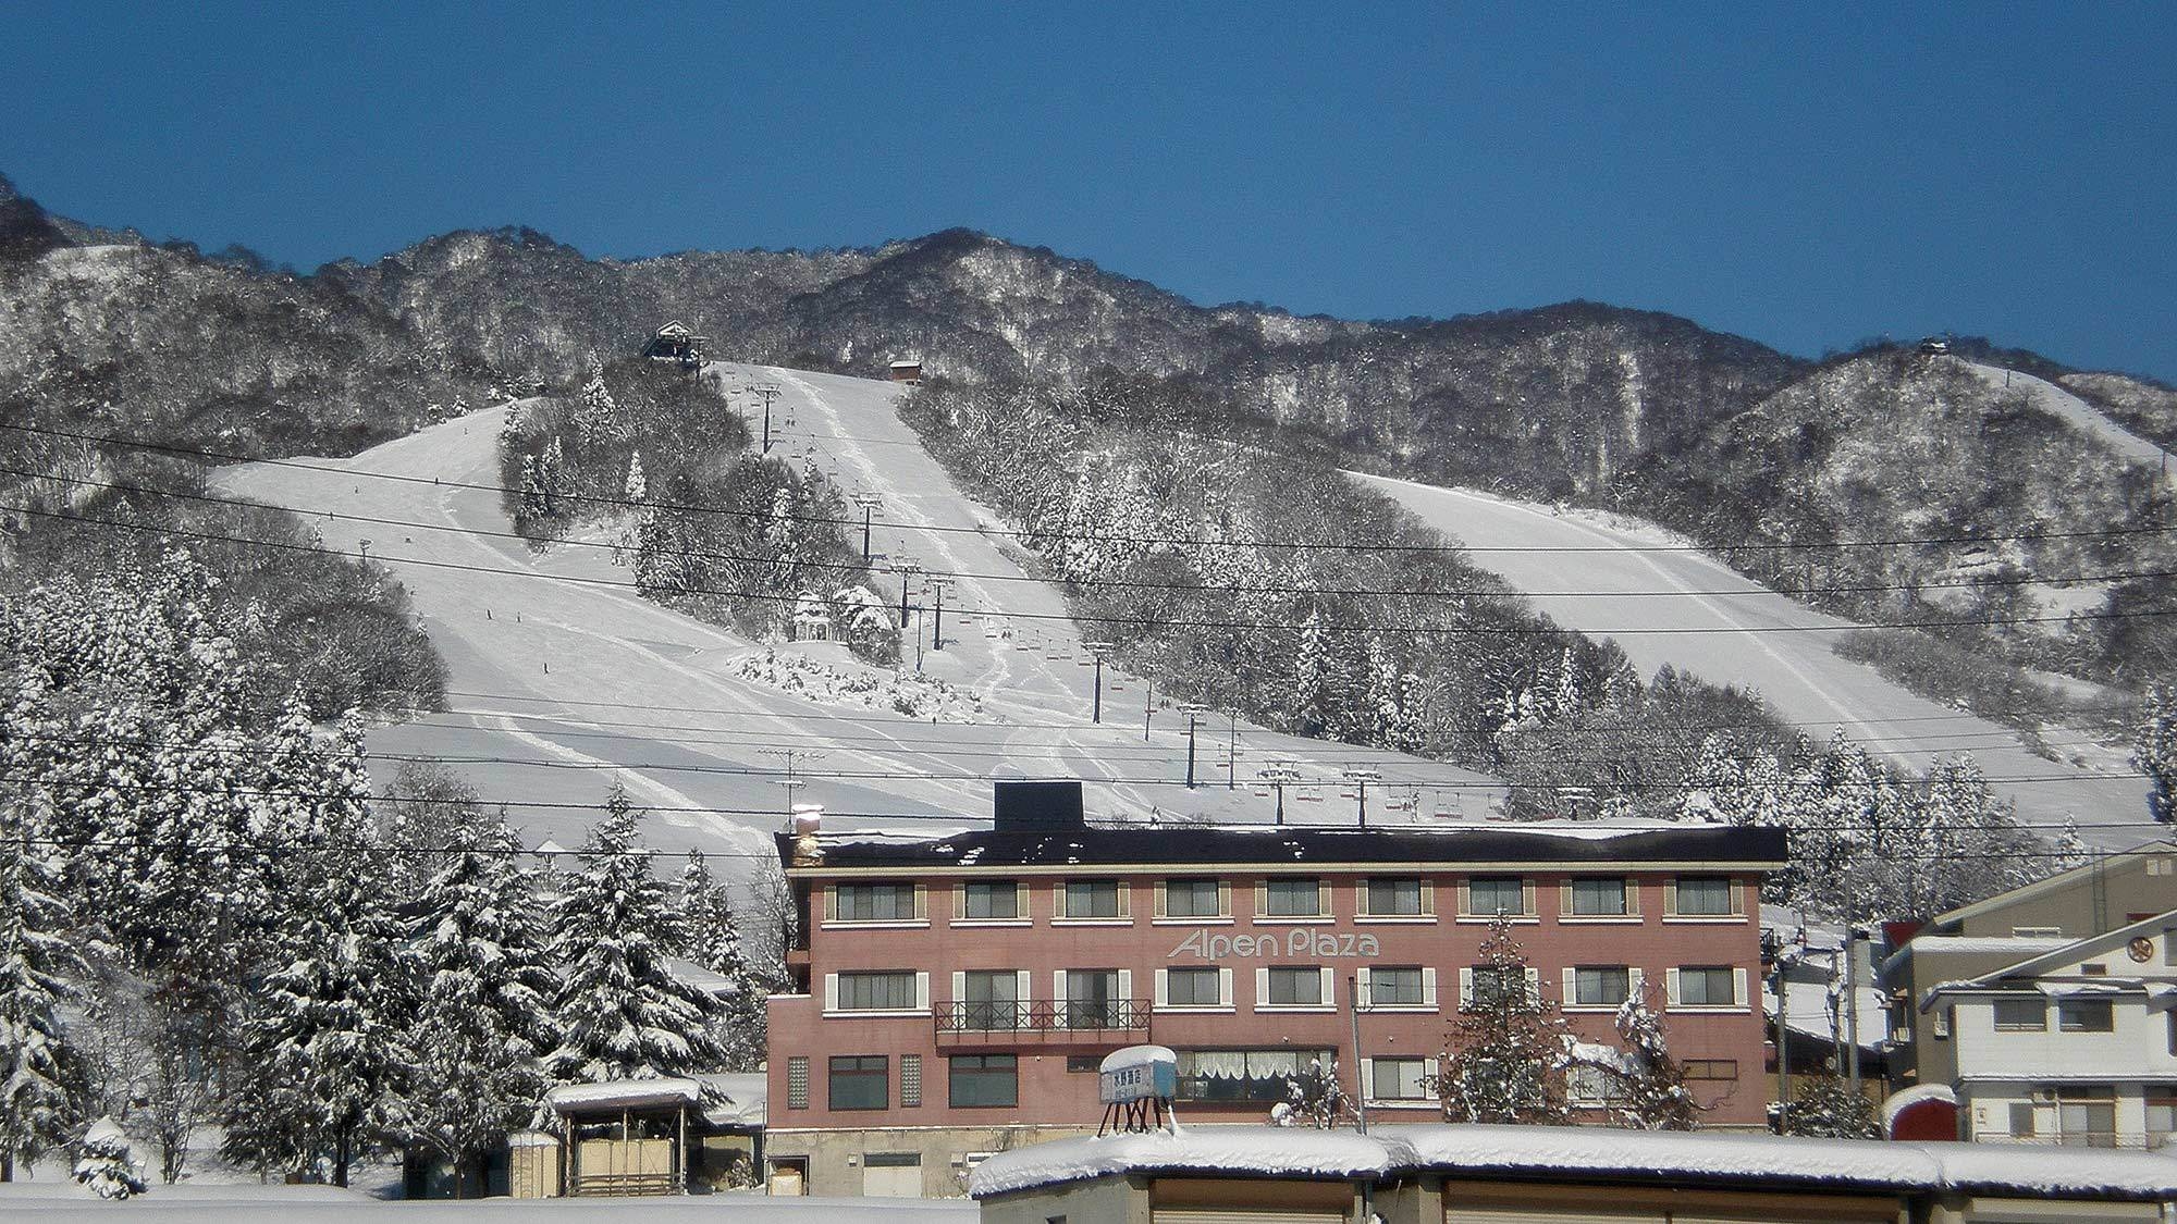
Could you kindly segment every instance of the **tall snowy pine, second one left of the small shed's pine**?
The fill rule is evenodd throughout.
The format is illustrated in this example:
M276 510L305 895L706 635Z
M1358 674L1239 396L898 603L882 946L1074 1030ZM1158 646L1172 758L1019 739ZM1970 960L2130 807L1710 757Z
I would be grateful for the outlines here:
M257 1167L322 1156L333 1185L348 1185L355 1159L398 1133L416 1000L383 856L370 845L359 719L344 719L309 767L283 812L296 841L283 858L292 906L281 967L242 1030L246 1082L226 1106L222 1150Z

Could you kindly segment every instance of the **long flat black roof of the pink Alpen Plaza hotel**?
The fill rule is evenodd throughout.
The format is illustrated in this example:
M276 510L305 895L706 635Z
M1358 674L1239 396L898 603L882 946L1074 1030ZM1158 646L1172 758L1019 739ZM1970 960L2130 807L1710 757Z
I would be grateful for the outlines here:
M1565 821L1552 825L1406 825L1406 828L1071 828L971 830L943 836L903 832L823 832L825 869L871 867L1132 867L1132 865L1284 865L1382 862L1513 865L1513 862L1750 862L1783 867L1785 834L1737 825L1613 828ZM779 858L792 865L795 836L777 834Z

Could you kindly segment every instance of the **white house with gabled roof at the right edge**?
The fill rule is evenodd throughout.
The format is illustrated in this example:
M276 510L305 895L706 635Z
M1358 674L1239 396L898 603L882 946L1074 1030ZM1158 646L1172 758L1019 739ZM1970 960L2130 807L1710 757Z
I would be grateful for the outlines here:
M1966 1137L2162 1148L2177 1135L2177 910L1942 982Z

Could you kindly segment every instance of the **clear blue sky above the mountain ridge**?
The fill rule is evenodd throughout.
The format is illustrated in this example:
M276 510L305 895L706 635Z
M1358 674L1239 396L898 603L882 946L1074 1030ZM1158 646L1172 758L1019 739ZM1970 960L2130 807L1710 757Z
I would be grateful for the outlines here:
M2173 4L9 4L0 172L303 268L964 224L1202 303L1598 298L2177 379Z

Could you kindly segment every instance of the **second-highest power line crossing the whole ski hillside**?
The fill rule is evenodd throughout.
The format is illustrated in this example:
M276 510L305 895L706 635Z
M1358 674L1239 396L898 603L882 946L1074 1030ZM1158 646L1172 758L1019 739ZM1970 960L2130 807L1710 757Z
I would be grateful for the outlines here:
M470 536L481 540L518 540L522 544L533 544L529 536L520 531L492 531L488 527L459 527L453 523L416 523L409 518L379 518L372 514L344 514L337 510L287 510L263 501L248 501L237 497L218 497L209 492L187 492L172 488L150 488L118 481L98 481L89 477L67 477L57 473L24 473L15 468L0 468L0 475L20 477L26 481L65 481L83 488L102 488L111 492L146 494L146 497L170 497L183 501L202 501L211 505L231 505L246 510L285 510L305 523L318 521L322 514L327 521L348 521L348 523L370 523L374 527L403 527L409 531L440 531L451 536ZM1047 536L1036 536L1047 538ZM1097 536L1067 536L1080 540L1097 540ZM607 540L575 540L555 538L557 547L573 549L605 549L612 553L623 551L623 544ZM716 562L753 562L768 564L779 558L753 555L753 553L727 553L718 549L651 549L662 558L690 558L690 560L716 560ZM869 571L866 560L853 562L823 562L823 560L795 560L801 568L836 571L836 573L864 573ZM1110 590L1195 590L1206 595L1308 595L1308 597L1395 597L1395 599L1715 599L1715 597L1759 597L1776 595L1785 599L1807 599L1816 595L1879 595L1879 592L1920 592L1920 590L1985 590L1985 588L2016 588L2016 586L2075 586L2075 584L2101 584L2101 582L2136 582L2151 577L2177 577L2177 571L2112 571L2112 573L2073 573L2073 575L2020 575L2020 577L1979 577L1979 579L1955 579L1955 582L1881 582L1881 584L1857 584L1857 586L1757 586L1746 588L1705 588L1705 590L1548 590L1548 592L1522 592L1506 586L1446 586L1446 588L1372 588L1372 586L1278 586L1278 584L1245 584L1245 582L1134 582L1117 577L1058 577L1043 579L1025 573L982 573L982 571L940 571L940 568L919 568L925 577L956 577L975 582L1021 582L1034 586L1060 586L1060 588L1110 588Z

